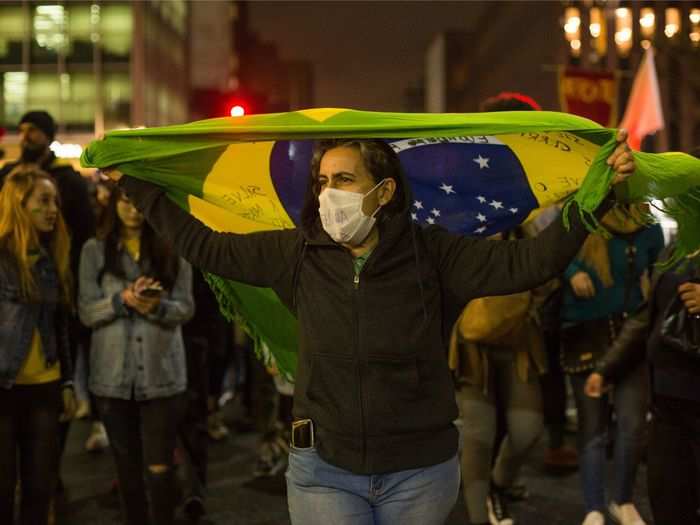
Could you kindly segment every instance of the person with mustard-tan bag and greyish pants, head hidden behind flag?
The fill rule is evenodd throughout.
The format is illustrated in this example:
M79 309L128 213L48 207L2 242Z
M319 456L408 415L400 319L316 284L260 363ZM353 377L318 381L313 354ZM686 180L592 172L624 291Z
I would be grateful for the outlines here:
M520 229L505 234L520 237ZM506 494L542 432L539 376L547 360L533 315L537 297L526 291L472 300L453 331L450 367L456 370L462 417L462 487L474 525L515 523ZM499 419L505 428L496 441Z

